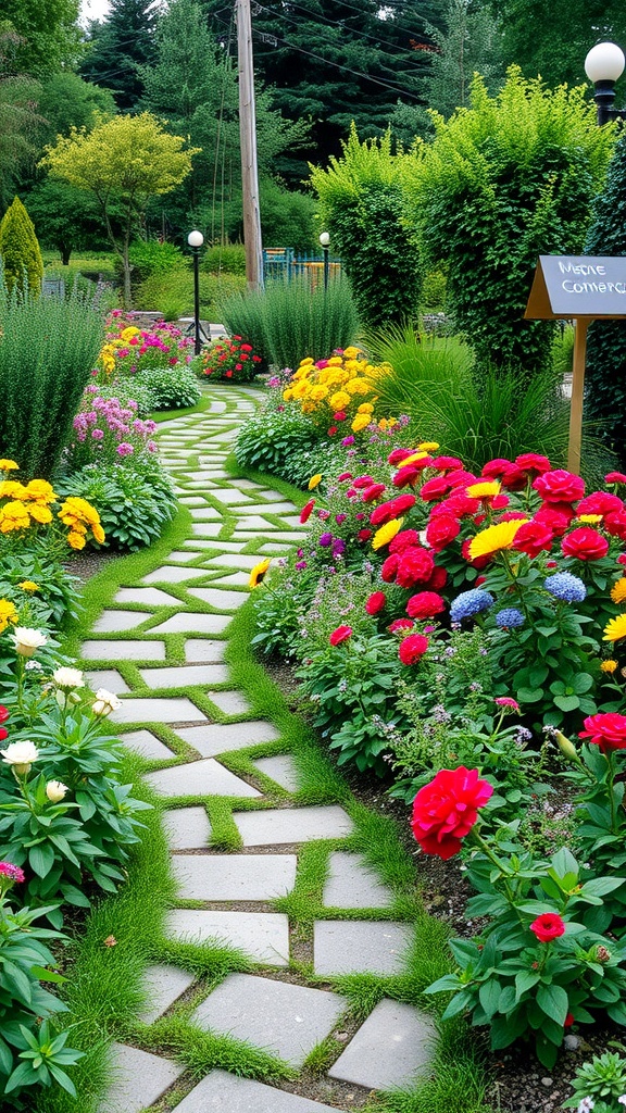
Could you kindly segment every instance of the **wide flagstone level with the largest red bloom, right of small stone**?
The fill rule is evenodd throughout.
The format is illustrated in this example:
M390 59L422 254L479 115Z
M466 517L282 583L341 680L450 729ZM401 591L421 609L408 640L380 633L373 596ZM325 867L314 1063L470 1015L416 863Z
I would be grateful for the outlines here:
M354 825L336 804L306 808L266 808L235 811L233 819L244 846L278 846L311 839L343 838Z

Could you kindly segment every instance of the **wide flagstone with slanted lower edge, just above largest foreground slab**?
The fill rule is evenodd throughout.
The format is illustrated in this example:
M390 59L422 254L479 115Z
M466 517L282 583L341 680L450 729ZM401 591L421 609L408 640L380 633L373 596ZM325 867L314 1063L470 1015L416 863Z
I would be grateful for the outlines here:
M288 919L282 913L174 908L166 935L180 943L226 943L268 966L288 966Z

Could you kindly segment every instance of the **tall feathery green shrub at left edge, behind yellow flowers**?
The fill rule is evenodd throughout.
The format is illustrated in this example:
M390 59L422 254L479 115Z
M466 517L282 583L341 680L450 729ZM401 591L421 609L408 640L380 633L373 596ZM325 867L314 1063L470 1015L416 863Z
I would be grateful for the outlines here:
M9 296L0 287L0 444L26 477L50 476L102 345L91 302Z

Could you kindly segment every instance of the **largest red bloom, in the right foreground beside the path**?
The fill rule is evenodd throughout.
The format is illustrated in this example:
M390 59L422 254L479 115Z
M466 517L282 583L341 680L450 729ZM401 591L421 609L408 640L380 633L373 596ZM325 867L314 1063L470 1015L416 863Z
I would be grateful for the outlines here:
M446 861L453 858L461 849L461 839L472 829L478 809L492 794L478 769L440 769L413 800L411 827L422 850Z

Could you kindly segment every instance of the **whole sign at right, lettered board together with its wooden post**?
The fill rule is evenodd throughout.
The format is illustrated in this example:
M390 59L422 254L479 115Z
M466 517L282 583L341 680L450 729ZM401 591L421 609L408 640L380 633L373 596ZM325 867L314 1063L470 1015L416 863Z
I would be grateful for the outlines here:
M528 321L574 321L567 466L578 474L587 329L593 321L626 318L626 257L540 255L524 316Z

